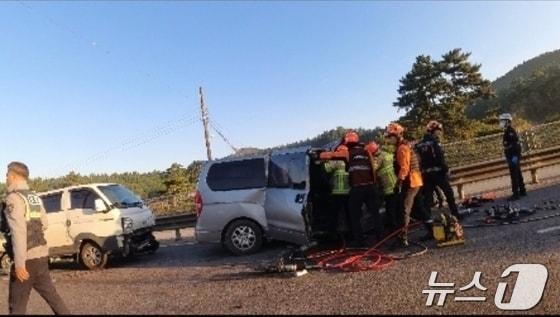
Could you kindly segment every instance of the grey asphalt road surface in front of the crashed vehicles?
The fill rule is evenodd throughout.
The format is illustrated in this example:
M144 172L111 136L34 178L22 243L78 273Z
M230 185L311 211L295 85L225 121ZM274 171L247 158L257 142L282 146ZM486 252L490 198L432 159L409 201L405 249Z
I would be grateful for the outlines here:
M531 191L520 205L531 207L557 199L560 186ZM557 211L539 211L537 216ZM473 215L466 223L474 223ZM62 297L80 314L501 314L494 304L502 272L513 264L543 264L549 282L541 303L531 313L560 313L560 217L492 228L467 229L467 244L429 252L397 262L383 271L363 273L310 272L290 278L255 275L256 263L273 259L287 246L268 245L254 256L231 257L220 246L198 245L184 232L181 241L163 241L155 255L120 261L101 272L58 265L52 275ZM548 229L541 231L543 229ZM539 231L543 233L538 233ZM173 233L160 236L172 238ZM428 279L438 271L438 282L469 284L482 272L484 303L456 303L426 307ZM0 301L6 303L8 283L0 281ZM511 292L511 289L510 289ZM49 314L33 293L29 313ZM0 306L7 313L7 305Z

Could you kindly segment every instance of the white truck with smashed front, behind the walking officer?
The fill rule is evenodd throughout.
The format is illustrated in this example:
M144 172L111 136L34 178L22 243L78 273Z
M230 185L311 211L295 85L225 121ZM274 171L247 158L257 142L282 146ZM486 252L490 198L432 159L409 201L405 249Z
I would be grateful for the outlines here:
M74 259L90 270L102 269L110 256L154 253L152 211L119 184L89 184L38 194L47 212L49 257ZM9 268L5 248L2 265Z

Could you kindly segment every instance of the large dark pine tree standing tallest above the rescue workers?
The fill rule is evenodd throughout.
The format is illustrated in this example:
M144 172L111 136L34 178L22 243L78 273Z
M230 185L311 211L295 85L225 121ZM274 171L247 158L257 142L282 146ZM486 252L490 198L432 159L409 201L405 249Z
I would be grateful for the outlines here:
M480 74L480 64L469 62L471 53L454 49L434 61L416 57L412 69L400 80L399 97L393 106L406 111L399 121L412 137L419 137L430 120L445 126L451 139L472 134L465 108L479 98L490 98L490 81Z

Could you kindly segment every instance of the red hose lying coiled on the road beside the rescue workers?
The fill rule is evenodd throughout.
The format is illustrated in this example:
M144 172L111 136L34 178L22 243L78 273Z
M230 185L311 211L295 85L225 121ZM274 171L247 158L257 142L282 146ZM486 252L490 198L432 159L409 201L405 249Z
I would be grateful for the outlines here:
M419 224L421 223L413 223L408 228L410 230ZM311 253L307 256L307 259L314 261L318 268L324 270L342 272L383 270L392 266L395 263L395 258L383 254L379 251L379 248L403 231L404 227L391 233L371 248L348 249L343 245L339 249Z

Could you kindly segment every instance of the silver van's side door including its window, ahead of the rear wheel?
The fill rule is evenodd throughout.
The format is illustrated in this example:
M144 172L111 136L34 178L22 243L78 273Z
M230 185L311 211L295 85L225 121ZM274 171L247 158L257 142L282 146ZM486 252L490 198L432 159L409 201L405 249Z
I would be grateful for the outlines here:
M309 193L306 152L272 155L268 165L265 210L269 235L278 240L307 243L304 208Z

